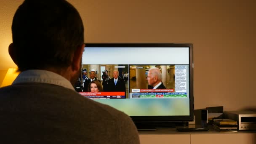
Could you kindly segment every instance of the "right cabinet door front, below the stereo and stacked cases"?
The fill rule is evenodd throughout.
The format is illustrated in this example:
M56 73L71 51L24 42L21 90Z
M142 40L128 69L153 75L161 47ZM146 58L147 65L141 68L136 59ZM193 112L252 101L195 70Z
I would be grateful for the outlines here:
M256 144L256 133L191 134L191 144Z

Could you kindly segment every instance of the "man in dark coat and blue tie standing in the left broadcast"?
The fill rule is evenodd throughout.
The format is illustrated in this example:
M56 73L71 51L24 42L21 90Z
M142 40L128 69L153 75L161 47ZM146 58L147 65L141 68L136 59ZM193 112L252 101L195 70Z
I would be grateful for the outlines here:
M114 70L113 78L108 80L108 91L123 91L126 94L125 82L119 77L118 70Z

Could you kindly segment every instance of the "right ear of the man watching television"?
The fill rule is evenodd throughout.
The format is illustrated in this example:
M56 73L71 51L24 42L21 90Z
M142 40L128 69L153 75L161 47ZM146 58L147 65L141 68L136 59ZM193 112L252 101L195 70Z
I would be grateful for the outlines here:
M81 45L79 48L75 50L73 61L72 61L72 70L78 71L81 67L81 59L83 55L83 50L85 48L85 44Z

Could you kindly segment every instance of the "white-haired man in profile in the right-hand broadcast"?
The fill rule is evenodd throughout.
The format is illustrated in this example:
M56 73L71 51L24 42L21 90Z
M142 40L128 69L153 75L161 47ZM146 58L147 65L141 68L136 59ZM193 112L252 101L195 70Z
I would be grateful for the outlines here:
M147 81L149 83L148 89L166 89L162 83L162 73L157 67L149 69Z

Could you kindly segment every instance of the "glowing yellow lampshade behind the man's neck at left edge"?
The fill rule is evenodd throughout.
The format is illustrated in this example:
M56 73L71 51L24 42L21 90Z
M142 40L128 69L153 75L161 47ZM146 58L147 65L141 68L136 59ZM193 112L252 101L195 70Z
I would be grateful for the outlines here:
M9 68L0 87L11 85L20 73L17 70L18 68Z

